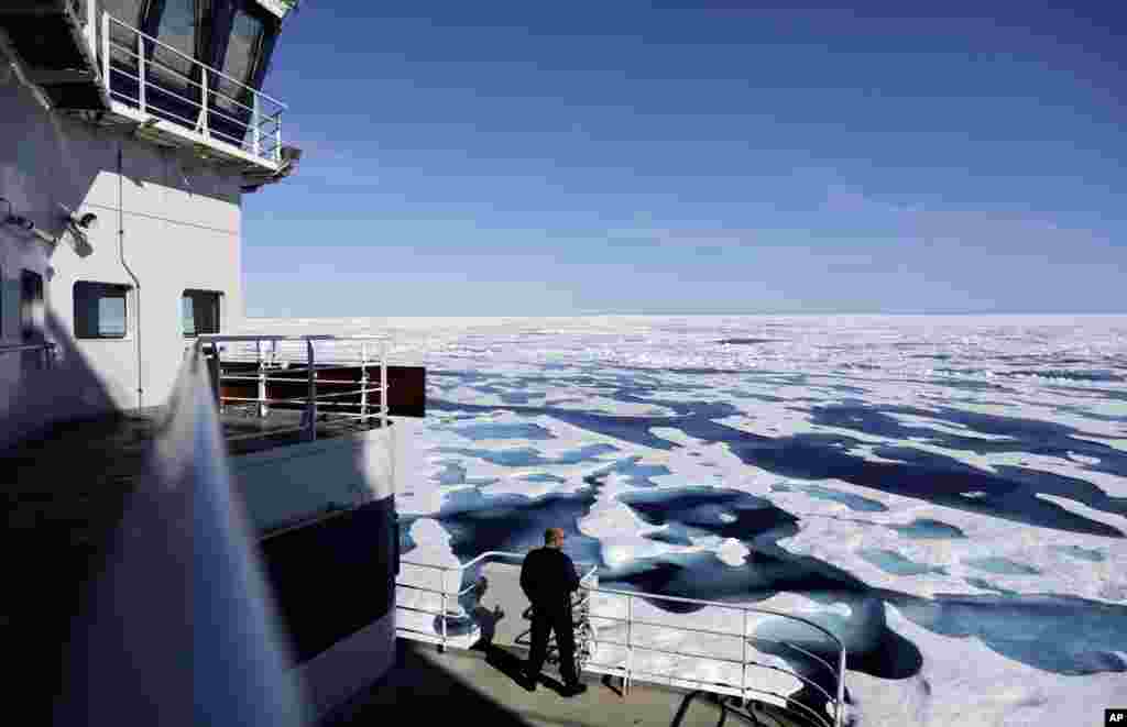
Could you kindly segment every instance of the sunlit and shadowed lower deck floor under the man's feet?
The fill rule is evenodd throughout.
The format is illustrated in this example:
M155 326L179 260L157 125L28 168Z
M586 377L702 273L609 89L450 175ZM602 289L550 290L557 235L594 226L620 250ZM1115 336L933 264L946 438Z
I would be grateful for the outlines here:
M526 657L513 646L447 649L397 639L397 665L383 679L325 718L319 727L376 727L387 724L481 724L490 727L789 727L769 706L752 711L721 703L716 695L635 683L622 695L618 680L584 674L587 691L564 697L558 674L545 670L535 692L517 679ZM728 720L725 720L728 721Z

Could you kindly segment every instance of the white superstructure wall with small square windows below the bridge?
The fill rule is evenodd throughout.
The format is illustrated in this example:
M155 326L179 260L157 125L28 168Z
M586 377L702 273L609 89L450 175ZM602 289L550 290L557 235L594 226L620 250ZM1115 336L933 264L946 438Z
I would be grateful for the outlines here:
M0 203L0 223L11 214L35 226L0 224L0 342L59 345L51 373L42 356L0 356L0 416L11 423L0 439L166 403L186 344L184 291L221 295L221 331L242 317L241 176L139 138L131 126L52 111L2 57L0 109L0 197L10 203ZM69 230L64 207L97 216L85 240ZM44 293L34 332L21 302L28 275ZM118 295L124 303L99 299Z

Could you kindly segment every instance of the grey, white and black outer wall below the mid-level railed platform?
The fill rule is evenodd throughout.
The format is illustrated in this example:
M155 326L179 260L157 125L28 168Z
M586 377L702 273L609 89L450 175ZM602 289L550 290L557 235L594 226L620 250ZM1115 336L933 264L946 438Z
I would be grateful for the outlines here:
M421 422L236 457L307 695L323 713L394 665L399 527L394 495L418 461Z

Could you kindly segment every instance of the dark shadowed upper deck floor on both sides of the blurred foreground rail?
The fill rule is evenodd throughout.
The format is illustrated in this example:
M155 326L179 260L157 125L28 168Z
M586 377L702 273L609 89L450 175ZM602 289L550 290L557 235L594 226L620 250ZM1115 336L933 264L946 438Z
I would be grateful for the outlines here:
M0 451L0 503L7 527L0 535L6 577L19 584L0 601L0 640L28 683L57 693L59 647L71 619L85 608L87 586L122 520L130 494L147 467L149 448L163 421L153 409L96 420L65 422ZM289 429L300 412L275 411L266 420L238 412L221 415L224 436ZM318 422L319 439L366 427ZM303 441L285 432L229 442L232 455Z

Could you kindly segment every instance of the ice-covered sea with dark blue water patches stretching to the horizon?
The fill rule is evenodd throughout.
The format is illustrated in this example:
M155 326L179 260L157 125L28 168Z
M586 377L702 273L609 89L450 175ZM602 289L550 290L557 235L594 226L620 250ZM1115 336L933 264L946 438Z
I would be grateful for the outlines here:
M603 585L801 612L858 725L1127 706L1127 317L249 323L427 367L409 557L558 524Z

